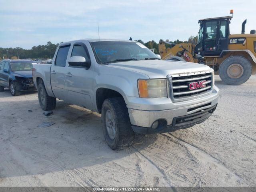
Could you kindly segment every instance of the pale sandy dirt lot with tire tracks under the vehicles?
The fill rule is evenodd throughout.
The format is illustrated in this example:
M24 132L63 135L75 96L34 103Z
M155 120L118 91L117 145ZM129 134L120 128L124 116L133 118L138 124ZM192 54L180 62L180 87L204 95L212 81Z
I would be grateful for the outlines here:
M0 186L256 186L256 76L240 86L216 79L208 120L136 135L121 151L105 143L99 114L58 100L45 117L36 92L1 92Z

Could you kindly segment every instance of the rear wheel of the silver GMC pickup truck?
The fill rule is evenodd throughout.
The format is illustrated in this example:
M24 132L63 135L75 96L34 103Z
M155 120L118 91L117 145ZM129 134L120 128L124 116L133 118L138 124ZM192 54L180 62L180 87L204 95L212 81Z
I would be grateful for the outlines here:
M38 85L38 100L42 110L49 111L56 107L56 98L48 96L42 83Z

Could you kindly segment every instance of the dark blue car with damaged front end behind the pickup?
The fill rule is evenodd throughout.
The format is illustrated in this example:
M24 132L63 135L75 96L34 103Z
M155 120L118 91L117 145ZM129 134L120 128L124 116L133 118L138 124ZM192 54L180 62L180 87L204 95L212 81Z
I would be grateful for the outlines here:
M31 60L2 60L0 62L0 92L10 88L13 96L24 90L35 90Z

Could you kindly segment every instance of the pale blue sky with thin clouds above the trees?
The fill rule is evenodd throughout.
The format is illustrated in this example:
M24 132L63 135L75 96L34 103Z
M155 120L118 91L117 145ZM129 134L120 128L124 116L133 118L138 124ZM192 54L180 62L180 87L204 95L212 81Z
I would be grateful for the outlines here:
M0 47L56 44L84 38L187 40L198 20L234 15L230 33L256 29L256 0L0 0Z

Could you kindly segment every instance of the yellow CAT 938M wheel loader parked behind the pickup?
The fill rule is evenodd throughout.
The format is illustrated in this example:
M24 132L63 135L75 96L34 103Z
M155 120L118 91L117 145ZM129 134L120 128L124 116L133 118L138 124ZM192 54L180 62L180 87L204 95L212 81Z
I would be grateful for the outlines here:
M230 14L233 15L233 10ZM198 36L193 43L172 44L160 40L161 58L206 64L226 84L243 84L251 74L256 74L256 31L244 34L244 20L242 34L230 34L231 19L232 16L199 20ZM165 44L170 46L166 48Z

